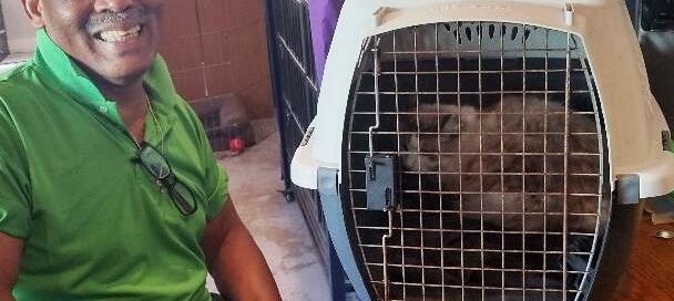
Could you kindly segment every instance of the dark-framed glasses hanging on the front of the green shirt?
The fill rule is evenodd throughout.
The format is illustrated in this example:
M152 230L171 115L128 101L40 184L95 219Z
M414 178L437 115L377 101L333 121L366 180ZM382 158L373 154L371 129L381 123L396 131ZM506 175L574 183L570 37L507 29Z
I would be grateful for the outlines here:
M173 205L183 216L191 216L196 211L194 195L175 178L168 160L160 150L143 142L140 145L137 156L143 167L168 190Z

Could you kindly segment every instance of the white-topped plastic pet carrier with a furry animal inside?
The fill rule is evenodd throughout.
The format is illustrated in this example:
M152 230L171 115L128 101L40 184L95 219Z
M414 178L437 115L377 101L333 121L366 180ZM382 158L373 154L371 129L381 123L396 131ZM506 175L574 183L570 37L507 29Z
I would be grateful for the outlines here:
M621 1L346 1L292 165L361 300L601 300L670 132Z

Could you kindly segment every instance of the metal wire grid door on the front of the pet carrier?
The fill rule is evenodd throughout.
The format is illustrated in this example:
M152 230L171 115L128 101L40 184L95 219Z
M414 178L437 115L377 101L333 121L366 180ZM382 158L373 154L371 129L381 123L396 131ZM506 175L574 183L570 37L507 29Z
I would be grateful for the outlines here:
M610 208L580 37L449 22L371 37L346 118L344 203L379 300L583 300ZM368 208L366 158L395 158Z

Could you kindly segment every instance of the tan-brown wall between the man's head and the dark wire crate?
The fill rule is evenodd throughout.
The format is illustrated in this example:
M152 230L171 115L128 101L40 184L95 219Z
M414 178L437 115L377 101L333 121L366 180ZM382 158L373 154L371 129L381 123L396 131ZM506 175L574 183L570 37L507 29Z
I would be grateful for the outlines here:
M190 101L236 93L273 117L263 0L166 0L162 53Z

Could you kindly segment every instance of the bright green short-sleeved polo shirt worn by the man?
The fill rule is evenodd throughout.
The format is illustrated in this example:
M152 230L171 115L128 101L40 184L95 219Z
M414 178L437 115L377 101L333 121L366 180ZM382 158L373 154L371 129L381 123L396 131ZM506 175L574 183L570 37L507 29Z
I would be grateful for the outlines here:
M197 199L184 217L134 158L115 103L38 32L32 61L0 77L0 231L24 241L17 300L210 300L200 240L227 179L157 55L144 77L165 149Z

